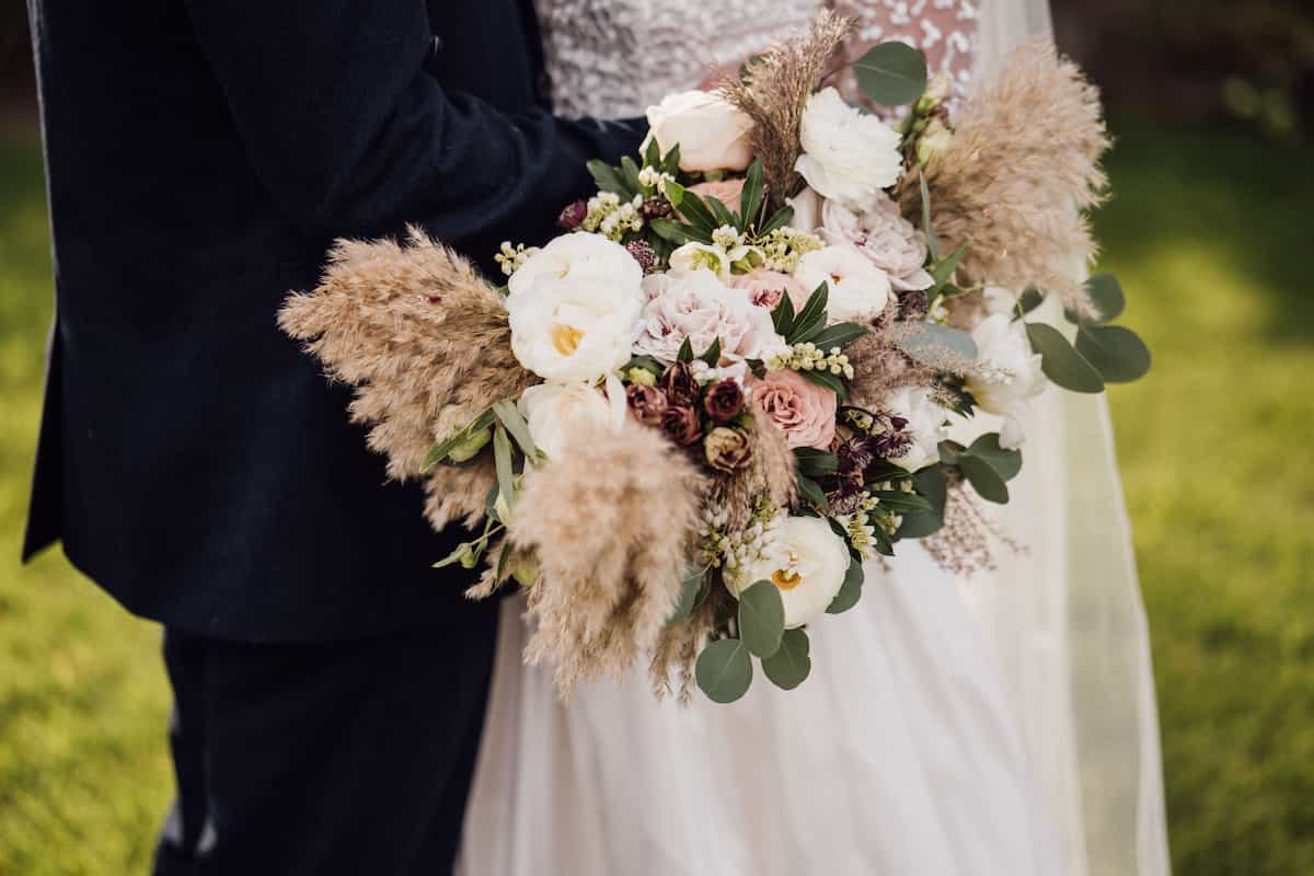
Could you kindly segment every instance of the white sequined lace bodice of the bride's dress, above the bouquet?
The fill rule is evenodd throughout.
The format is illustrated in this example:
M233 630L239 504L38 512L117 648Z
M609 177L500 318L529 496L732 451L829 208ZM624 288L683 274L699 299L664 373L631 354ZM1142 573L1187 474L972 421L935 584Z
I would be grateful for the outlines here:
M961 93L971 77L978 8L988 0L536 0L556 112L639 116L694 88L712 66L738 64L804 29L830 5L859 21L848 54L900 39L947 70Z

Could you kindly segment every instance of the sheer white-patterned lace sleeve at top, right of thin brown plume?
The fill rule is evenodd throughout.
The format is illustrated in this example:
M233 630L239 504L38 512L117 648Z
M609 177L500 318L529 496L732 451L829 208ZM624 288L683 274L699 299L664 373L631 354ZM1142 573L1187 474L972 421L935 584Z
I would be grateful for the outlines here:
M953 80L953 97L967 92L976 62L978 20L982 0L838 0L837 12L858 20L858 33L845 47L857 60L879 42L897 39L926 54L932 74L945 71ZM857 95L853 74L844 89Z

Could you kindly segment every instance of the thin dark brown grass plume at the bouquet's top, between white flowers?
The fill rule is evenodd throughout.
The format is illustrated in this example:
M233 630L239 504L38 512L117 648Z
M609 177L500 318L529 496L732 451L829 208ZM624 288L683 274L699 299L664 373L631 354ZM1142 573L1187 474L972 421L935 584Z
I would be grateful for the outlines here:
M762 159L766 190L773 208L802 186L794 169L803 147L799 126L808 95L828 72L827 63L853 33L854 21L825 9L812 20L803 37L778 42L748 64L745 76L736 71L717 89L753 120L753 154Z

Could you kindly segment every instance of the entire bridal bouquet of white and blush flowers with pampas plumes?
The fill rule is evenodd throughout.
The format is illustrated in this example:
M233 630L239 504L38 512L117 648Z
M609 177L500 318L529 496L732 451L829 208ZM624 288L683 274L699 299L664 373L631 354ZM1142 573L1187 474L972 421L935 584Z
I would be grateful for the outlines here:
M824 13L652 108L561 236L502 246L505 286L413 231L339 242L280 315L432 525L470 529L438 566L527 591L526 659L564 693L637 659L719 703L754 662L796 687L863 561L988 562L975 502L1008 500L1047 382L1148 368L1117 282L1081 280L1108 139L1080 72L1026 46L951 114L886 43L853 70L872 114L828 84L849 29Z

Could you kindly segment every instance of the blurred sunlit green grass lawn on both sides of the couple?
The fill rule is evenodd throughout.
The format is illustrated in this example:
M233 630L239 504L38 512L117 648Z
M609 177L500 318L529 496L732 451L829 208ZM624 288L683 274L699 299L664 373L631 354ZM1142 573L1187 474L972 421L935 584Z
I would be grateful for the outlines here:
M1117 126L1097 227L1150 378L1112 390L1176 872L1314 873L1314 150ZM145 872L170 796L158 632L16 556L51 277L34 139L0 139L0 875Z

